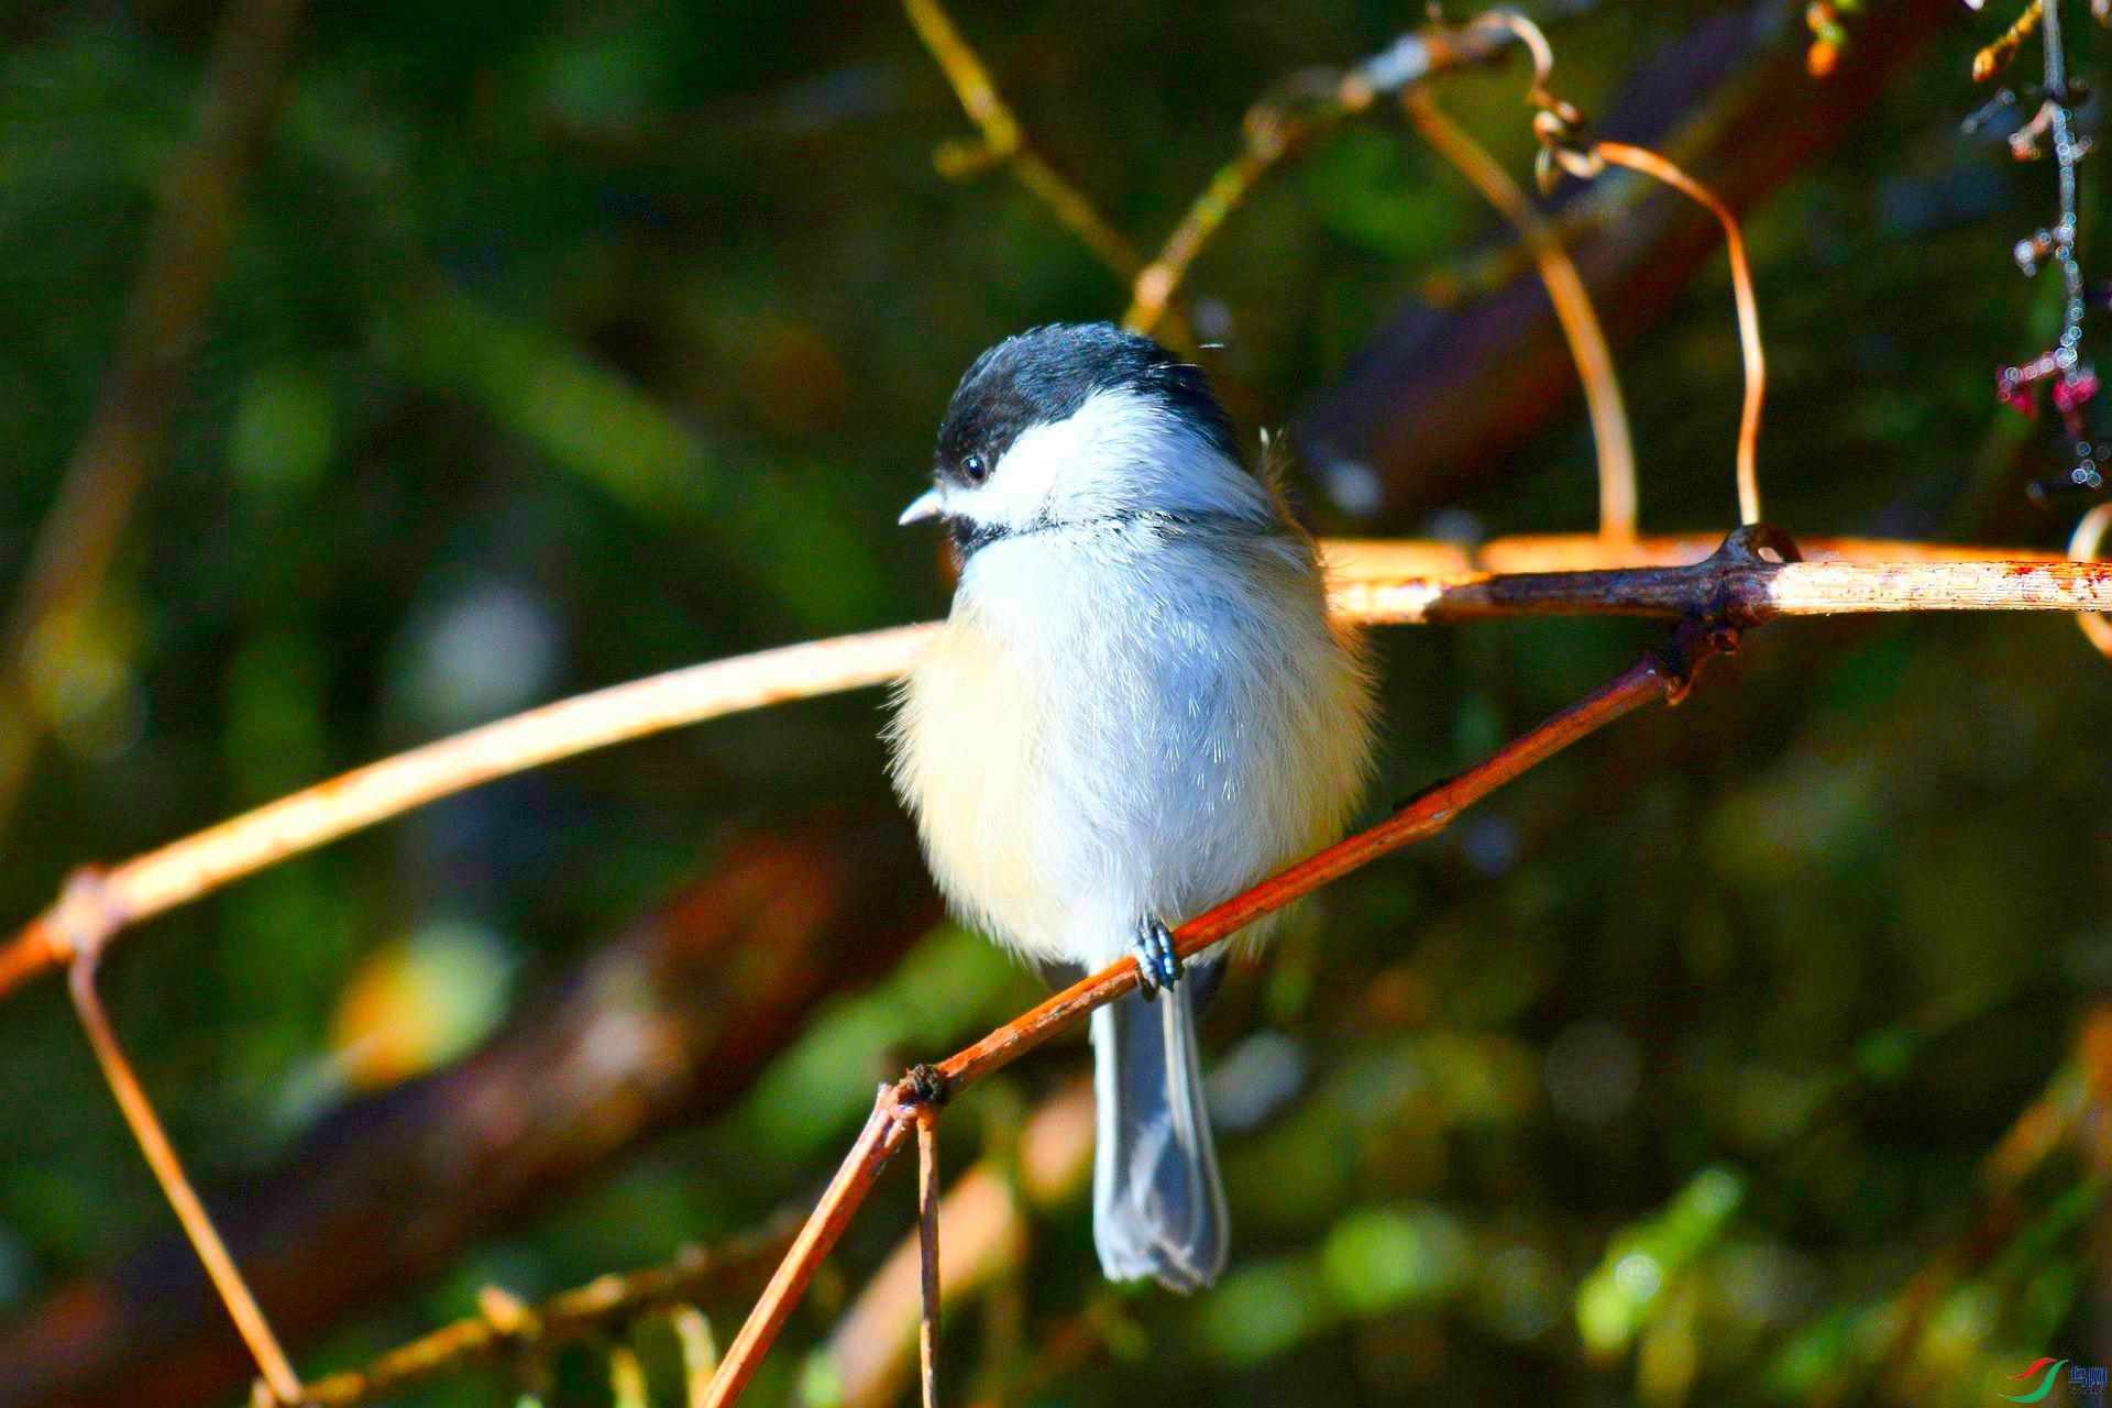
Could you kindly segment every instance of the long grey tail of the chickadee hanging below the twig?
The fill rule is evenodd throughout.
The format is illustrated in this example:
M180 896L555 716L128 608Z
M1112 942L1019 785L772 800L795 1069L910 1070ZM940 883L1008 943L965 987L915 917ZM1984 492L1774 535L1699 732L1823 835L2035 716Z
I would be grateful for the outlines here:
M1225 1269L1225 1184L1195 1047L1202 996L1183 982L1155 1003L1132 992L1092 1013L1092 1239L1111 1281L1149 1275L1191 1292Z

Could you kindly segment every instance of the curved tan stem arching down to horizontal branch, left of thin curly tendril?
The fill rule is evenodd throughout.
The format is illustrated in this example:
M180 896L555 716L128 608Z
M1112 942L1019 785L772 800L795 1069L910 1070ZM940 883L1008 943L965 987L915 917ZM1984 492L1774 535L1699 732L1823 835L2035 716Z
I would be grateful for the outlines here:
M1554 304L1554 317L1563 325L1569 355L1578 363L1578 380L1584 384L1584 405L1590 412L1592 445L1599 460L1599 534L1614 540L1635 538L1635 437L1628 433L1628 407L1620 397L1620 378L1614 372L1614 353L1607 350L1605 329L1599 312L1584 291L1584 277L1578 274L1576 260L1563 249L1561 236L1546 215L1533 209L1519 184L1504 173L1481 144L1447 118L1423 89L1409 89L1402 95L1409 122L1421 133L1459 175L1464 175L1483 198L1510 222L1519 241L1533 255L1540 281Z

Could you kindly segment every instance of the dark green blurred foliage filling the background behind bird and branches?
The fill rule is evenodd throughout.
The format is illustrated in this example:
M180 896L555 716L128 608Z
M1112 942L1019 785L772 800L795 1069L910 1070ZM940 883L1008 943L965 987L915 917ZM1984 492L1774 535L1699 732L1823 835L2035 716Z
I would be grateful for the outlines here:
M1559 32L1565 93L1607 101L1717 13L1597 6ZM957 19L1054 160L1149 243L1269 80L1413 15L1037 0ZM190 0L0 15L4 562L91 412L211 21ZM1994 23L1960 13L1869 131L1749 222L1764 479L1791 530L2066 534L2021 500L2051 445L1990 395L2055 321L2051 285L2009 262L2051 173L1958 135ZM1516 72L1445 101L1525 171ZM87 642L40 678L51 743L6 834L6 914L82 859L543 699L942 610L931 543L891 524L953 378L1005 331L1121 306L1010 182L934 173L961 131L891 6L319 6L173 450ZM1282 424L1426 281L1502 247L1455 175L1371 122L1242 209L1193 293L1233 329L1250 418ZM1624 350L1647 528L1723 524L1736 357L1719 260ZM1576 410L1472 471L1459 509L1485 532L1588 521ZM1322 530L1423 528L1301 500ZM1383 635L1373 796L1652 640ZM1223 1286L1102 1288L1071 1203L1037 1226L1024 1319L957 1317L948 1381L980 1364L1045 1404L1977 1404L2040 1353L2112 1359L2099 1188L2074 1150L1968 1254L1987 1150L2034 1100L2082 1100L2063 1060L2112 984L2108 709L2112 671L2059 619L1757 635L1677 713L1337 887L1227 988L1210 1041L1244 1077L1223 1098L1282 1096L1223 1119ZM207 1184L253 1178L351 1089L460 1053L733 832L881 800L879 718L874 697L815 701L591 756L156 920L108 994L177 1144ZM974 937L931 935L741 1110L304 1364L463 1313L486 1281L534 1296L758 1224L817 1186L872 1081L1033 992ZM1058 1045L978 1091L961 1157L1081 1060ZM851 1283L906 1216L891 1188L853 1229ZM165 1226L59 996L15 998L0 1311ZM1090 1351L1037 1381L1037 1347L1077 1326ZM800 1364L773 1357L758 1402ZM596 1353L555 1370L551 1402L608 1402ZM505 1397L469 1376L429 1402Z

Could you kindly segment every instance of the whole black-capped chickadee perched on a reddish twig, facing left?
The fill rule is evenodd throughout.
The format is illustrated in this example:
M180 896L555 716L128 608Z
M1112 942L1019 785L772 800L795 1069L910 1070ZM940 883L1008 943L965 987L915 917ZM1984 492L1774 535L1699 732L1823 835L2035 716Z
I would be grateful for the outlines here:
M1136 958L1138 992L1092 1013L1094 1243L1111 1279L1198 1290L1229 1233L1195 1049L1219 969L1176 988L1168 925L1341 834L1371 678L1312 538L1149 338L978 357L902 521L931 517L961 574L900 692L895 787L965 920L1045 967Z

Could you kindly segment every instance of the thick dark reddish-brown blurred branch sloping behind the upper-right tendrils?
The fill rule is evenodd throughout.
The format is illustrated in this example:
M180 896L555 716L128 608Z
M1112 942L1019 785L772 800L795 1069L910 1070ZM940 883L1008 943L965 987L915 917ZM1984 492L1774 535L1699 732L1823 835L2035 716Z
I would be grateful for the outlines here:
M1939 34L1954 32L1954 13L1937 0L1863 6L1856 42L1827 84L1812 84L1804 46L1783 25L1687 30L1649 74L1607 93L1603 116L1620 131L1609 127L1605 135L1675 154L1685 169L1704 173L1732 209L1747 211L1816 156L1852 144L1892 80ZM1656 182L1601 182L1552 217L1576 241L1571 253L1616 344L1658 319L1690 285L1687 274L1721 247L1717 222ZM1464 272L1478 279L1472 264ZM1377 494L1375 517L1413 521L1573 407L1569 350L1540 279L1531 268L1525 274L1489 298L1476 296L1472 306L1411 300L1385 321L1297 416L1299 450L1322 481L1362 486L1358 494ZM1635 391L1643 369L1622 369ZM1647 445L1639 450L1647 454ZM1647 467L1643 473L1652 477Z

